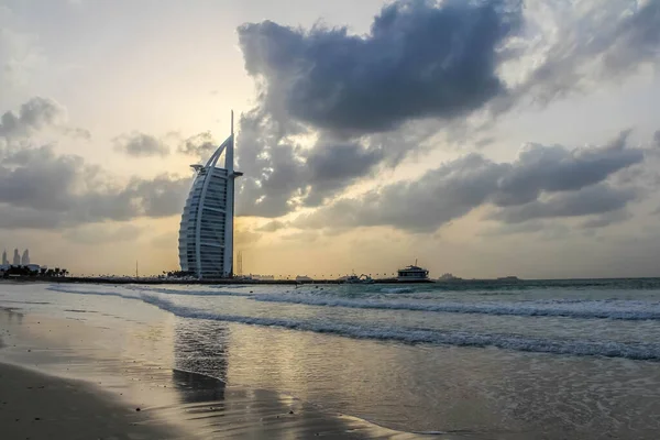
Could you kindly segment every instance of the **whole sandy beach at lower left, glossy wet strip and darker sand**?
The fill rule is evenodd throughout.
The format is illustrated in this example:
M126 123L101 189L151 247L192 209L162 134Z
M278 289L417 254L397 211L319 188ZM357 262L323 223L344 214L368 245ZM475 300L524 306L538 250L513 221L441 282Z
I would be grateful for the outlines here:
M3 337L2 440L428 438L172 369L157 351L108 351L108 334L82 321L0 309Z

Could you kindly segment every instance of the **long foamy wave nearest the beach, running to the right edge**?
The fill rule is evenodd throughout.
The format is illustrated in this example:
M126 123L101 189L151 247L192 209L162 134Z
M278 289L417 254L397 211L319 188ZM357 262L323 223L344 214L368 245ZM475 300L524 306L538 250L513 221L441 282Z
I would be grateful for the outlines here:
M223 315L211 311L178 306L157 295L138 293L138 296L120 292L76 290L50 288L55 292L78 295L118 296L127 299L138 299L158 307L175 316L189 319L206 319L224 322L237 322L262 327L277 327L289 330L329 333L355 339L374 339L398 341L405 343L430 343L457 346L495 346L504 350L515 350L536 353L552 353L568 355L602 355L607 358L626 358L631 360L660 361L660 344L654 343L620 343L585 340L553 340L529 338L517 334L475 333L466 331L446 331L436 329L419 329L405 327L384 327L378 324L356 326L353 323L293 320L282 318L248 317Z

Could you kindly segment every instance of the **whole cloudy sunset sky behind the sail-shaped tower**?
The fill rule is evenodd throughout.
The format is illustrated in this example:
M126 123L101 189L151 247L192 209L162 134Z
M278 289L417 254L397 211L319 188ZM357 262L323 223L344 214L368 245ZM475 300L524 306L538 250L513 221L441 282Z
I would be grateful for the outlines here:
M0 0L0 249L178 268L237 117L243 272L660 276L660 0Z

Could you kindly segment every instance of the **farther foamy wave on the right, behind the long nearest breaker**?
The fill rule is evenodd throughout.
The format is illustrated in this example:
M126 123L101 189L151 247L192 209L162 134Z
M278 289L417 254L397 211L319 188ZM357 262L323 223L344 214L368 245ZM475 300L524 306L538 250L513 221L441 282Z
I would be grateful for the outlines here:
M449 314L510 315L526 317L565 317L580 319L658 320L660 304L634 300L570 300L518 302L395 302L377 299L344 299L316 295L260 295L262 302L287 302L320 307L413 310Z

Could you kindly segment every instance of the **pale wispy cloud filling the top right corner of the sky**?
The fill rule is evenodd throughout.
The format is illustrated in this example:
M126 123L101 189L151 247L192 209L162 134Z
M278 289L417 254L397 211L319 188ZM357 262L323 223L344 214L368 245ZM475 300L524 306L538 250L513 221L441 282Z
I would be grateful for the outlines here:
M660 61L660 0L526 3L525 37L503 70L514 78L497 111L519 100L548 103Z

